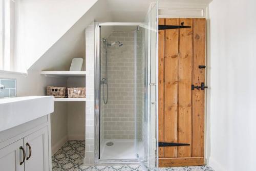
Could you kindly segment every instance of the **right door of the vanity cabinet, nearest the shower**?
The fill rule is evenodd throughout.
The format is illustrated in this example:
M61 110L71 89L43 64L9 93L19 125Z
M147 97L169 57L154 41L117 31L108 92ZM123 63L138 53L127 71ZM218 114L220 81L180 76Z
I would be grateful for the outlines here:
M49 171L48 127L24 138L26 171Z

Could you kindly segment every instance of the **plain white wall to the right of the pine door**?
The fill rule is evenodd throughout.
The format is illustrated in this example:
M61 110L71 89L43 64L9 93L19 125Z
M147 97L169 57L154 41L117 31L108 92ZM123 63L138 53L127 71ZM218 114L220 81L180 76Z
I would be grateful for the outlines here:
M214 0L210 14L209 165L255 170L256 2Z

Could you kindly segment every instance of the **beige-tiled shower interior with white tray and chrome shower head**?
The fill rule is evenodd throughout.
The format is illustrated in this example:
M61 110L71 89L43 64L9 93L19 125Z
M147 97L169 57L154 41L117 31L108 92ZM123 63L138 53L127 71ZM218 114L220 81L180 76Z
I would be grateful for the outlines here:
M136 159L135 110L138 111L138 106L135 106L135 100L140 100L136 104L143 108L143 92L139 92L143 89L139 86L144 88L142 44L138 44L142 42L141 32L136 26L101 27L101 159ZM140 62L141 67L135 67L138 65L135 65L136 62ZM141 97L135 95L135 91ZM142 119L141 116L139 118ZM107 142L113 142L113 145L108 146Z

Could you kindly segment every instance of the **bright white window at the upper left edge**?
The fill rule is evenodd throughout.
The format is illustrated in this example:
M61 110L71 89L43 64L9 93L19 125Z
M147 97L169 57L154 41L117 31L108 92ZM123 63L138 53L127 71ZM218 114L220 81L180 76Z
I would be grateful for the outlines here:
M0 70L16 71L17 1L0 0Z

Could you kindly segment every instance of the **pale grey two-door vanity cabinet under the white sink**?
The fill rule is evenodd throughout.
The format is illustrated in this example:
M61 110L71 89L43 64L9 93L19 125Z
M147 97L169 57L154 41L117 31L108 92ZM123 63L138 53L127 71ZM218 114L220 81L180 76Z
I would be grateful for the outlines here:
M50 115L0 132L0 170L51 170L49 119Z

